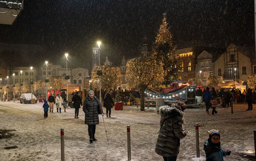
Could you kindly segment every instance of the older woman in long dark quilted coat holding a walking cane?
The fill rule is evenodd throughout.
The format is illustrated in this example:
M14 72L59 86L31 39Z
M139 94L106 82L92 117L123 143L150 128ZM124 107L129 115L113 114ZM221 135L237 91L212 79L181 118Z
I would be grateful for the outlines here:
M90 137L90 143L97 141L95 138L96 124L99 124L98 114L103 114L103 108L97 97L94 96L94 91L88 92L89 97L84 100L83 111L86 114L84 123L88 124L88 135Z

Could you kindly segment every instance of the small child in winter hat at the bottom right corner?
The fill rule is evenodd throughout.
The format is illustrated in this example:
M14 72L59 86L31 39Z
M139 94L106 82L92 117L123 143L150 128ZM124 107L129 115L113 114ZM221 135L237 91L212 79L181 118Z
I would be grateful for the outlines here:
M211 131L208 131L209 138L204 143L204 152L206 154L206 161L221 161L223 160L223 156L229 156L230 150L223 151L221 149L221 142L219 141L221 139L221 135L219 134L219 131L213 129Z

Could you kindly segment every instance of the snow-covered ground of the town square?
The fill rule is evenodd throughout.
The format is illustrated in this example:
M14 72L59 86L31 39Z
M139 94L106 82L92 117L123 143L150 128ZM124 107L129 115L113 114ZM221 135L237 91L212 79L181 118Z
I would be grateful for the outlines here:
M74 109L43 118L43 103L20 104L0 102L0 129L16 130L14 136L0 139L0 160L60 160L60 129L65 129L65 160L117 160L127 158L126 126L130 125L132 160L163 160L155 153L156 139L160 129L160 115L153 108L126 106L122 111L112 110L112 118L103 118L96 126L96 139L89 143L88 126L84 124L84 112L80 108L79 119ZM234 114L230 108L218 108L217 115L206 114L205 108L185 110L187 137L181 140L178 160L196 160L196 133L194 124L200 124L200 160L204 160L203 143L207 131L218 129L222 149L232 154L225 160L252 160L244 156L244 150L254 150L253 131L256 130L256 110L246 111L246 104L235 104ZM105 109L104 109L105 110ZM4 147L18 146L16 149Z

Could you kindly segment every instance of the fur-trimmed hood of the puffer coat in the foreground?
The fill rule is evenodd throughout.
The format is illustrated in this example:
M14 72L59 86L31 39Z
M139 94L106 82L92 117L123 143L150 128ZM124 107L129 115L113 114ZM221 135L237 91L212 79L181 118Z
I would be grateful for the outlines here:
M182 117L183 116L183 112L181 112L181 110L177 109L177 108L173 108L170 106L161 106L159 108L159 113L161 114L162 117Z

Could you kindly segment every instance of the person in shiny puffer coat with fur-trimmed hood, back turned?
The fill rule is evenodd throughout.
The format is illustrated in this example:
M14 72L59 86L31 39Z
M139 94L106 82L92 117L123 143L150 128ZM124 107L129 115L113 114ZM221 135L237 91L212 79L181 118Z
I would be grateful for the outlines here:
M160 131L156 143L156 153L163 156L164 161L175 161L179 154L180 139L186 136L183 130L183 110L185 103L173 103L172 106L162 106Z

